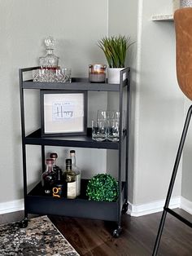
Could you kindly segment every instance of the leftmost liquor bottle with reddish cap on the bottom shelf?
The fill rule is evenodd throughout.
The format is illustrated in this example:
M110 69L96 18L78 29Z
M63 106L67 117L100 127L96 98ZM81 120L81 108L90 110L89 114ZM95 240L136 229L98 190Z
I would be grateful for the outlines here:
M52 187L55 181L55 173L53 171L53 159L47 158L46 159L46 170L41 175L41 184L43 191L47 196L52 195Z

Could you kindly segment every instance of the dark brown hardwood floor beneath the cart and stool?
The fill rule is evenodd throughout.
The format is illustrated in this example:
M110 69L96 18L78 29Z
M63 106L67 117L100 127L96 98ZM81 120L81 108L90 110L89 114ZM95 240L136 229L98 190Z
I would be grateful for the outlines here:
M185 214L183 210L177 210ZM185 214L191 221L191 215ZM122 217L123 231L111 236L114 223L84 218L49 216L80 255L149 256L152 254L161 213L142 217ZM159 256L191 256L192 229L168 214L159 245Z

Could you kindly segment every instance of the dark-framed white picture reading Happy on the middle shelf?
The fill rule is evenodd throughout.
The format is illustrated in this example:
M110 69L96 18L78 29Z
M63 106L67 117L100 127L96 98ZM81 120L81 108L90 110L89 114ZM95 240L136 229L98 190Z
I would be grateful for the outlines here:
M85 135L87 91L41 90L41 135Z

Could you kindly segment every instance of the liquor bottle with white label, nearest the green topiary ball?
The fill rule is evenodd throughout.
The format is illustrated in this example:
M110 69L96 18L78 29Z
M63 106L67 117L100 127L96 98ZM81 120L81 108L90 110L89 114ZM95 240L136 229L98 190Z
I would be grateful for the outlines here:
M72 170L72 159L66 159L66 170L64 172L67 197L76 198L76 173Z

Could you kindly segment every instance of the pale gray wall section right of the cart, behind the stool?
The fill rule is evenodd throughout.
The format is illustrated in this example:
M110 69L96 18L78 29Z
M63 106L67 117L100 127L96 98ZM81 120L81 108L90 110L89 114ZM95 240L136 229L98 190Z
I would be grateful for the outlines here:
M163 200L183 124L183 95L175 70L175 33L172 22L152 22L156 13L171 13L168 1L139 1L141 28L137 72L136 166L134 204ZM164 8L162 8L164 7ZM181 166L180 166L181 167ZM181 168L173 196L181 195Z

